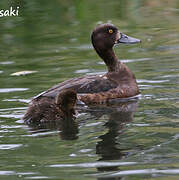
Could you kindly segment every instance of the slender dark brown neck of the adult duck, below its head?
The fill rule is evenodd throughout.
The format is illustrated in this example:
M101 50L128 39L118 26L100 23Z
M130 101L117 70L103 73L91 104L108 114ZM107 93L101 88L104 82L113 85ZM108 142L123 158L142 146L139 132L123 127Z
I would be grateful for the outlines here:
M98 55L104 60L106 66L108 67L108 72L117 72L118 71L118 58L116 57L112 48L107 50L97 50Z

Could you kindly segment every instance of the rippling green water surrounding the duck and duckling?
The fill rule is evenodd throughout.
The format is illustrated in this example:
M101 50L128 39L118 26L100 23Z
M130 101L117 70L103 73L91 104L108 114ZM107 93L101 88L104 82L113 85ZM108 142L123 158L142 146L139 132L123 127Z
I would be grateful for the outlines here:
M0 18L0 179L178 179L178 1L12 3L20 16ZM9 6L0 2L1 9ZM25 125L31 97L106 71L90 44L100 21L142 40L115 48L137 77L139 101L83 107L68 132Z

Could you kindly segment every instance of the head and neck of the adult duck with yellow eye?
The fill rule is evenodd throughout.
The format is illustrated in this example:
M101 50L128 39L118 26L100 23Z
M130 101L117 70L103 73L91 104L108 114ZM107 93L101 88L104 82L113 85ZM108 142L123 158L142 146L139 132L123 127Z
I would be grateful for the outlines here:
M97 26L92 32L91 41L98 55L106 63L108 72L118 69L118 59L113 51L115 45L141 42L139 39L121 33L117 27L109 23Z

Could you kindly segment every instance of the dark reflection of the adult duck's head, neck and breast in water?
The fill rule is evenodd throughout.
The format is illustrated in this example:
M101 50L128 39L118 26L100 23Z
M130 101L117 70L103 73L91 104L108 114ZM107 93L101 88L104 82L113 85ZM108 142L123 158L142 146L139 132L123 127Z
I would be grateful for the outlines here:
M119 160L127 155L122 152L125 149L120 148L119 136L123 133L125 124L133 120L133 112L136 110L137 101L120 103L111 113L109 113L110 109L106 108L105 112L107 112L109 120L105 123L105 127L108 128L108 132L99 137L101 141L96 145L96 154L101 156L99 161ZM97 169L100 172L119 170L118 166L98 167ZM116 177L107 179L116 180ZM106 178L100 177L98 180L106 180Z

